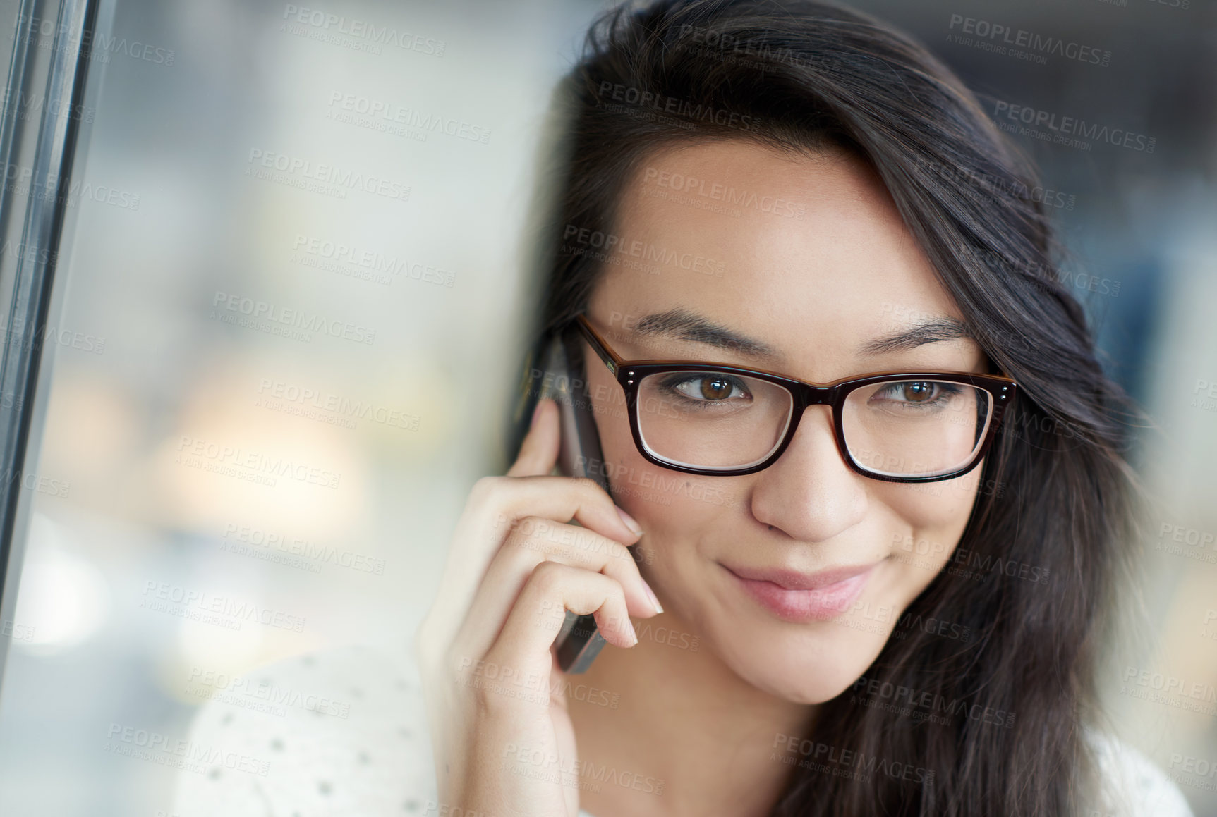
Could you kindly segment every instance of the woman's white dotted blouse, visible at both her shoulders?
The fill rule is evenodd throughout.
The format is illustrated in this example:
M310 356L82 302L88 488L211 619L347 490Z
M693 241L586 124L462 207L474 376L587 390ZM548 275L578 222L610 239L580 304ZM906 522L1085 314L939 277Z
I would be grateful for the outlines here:
M426 712L409 663L349 647L220 683L225 688L211 688L215 694L197 711L189 739L246 760L236 770L217 762L178 772L178 817L447 813L436 802ZM1097 807L1101 817L1194 817L1178 787L1143 754L1089 734L1110 782L1110 801Z

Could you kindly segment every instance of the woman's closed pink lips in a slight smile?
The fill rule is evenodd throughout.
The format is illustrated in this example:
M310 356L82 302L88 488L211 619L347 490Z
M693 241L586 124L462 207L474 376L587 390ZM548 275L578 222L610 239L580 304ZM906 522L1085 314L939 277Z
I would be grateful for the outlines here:
M723 567L744 592L779 619L806 624L832 619L845 613L862 593L875 564L859 564L813 574L783 569Z

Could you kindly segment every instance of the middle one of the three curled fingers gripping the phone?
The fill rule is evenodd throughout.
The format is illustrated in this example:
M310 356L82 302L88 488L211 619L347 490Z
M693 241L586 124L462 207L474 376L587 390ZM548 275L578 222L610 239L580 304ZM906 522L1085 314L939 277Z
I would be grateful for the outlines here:
M633 553L624 545L578 525L526 517L494 554L456 641L466 644L472 654L483 654L525 584L543 562L582 568L613 579L624 590L630 615L651 618L660 612L651 602L650 590Z

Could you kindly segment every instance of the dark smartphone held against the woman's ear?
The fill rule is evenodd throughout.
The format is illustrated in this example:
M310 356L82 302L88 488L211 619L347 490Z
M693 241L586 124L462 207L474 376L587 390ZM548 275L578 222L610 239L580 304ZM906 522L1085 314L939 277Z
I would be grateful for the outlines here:
M554 400L561 416L562 441L556 471L565 477L590 477L600 488L608 491L604 468L598 467L604 460L600 452L600 433L591 413L591 399L583 378L570 365L572 351L573 349L570 349L561 337L555 337L545 346L539 361L540 379L534 381L538 399ZM572 524L578 523L572 522ZM566 612L566 620L554 641L557 665L563 672L572 675L585 672L604 646L605 639L596 629L595 618Z

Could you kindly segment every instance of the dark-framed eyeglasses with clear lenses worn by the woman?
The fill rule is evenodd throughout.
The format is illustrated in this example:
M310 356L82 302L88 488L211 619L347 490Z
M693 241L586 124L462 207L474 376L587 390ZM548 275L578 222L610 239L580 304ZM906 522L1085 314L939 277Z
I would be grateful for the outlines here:
M815 385L775 372L680 360L622 360L588 322L576 326L626 393L629 428L649 462L688 474L768 468L803 410L831 406L849 467L890 483L932 483L976 467L1019 385L968 372L885 372Z

